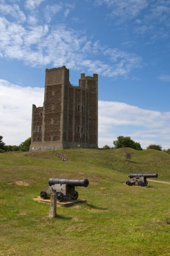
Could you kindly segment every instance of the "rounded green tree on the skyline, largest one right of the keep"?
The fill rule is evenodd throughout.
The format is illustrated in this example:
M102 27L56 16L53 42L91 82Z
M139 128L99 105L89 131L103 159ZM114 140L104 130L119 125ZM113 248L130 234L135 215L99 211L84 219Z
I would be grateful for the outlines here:
M118 136L118 140L113 141L115 148L134 148L135 150L143 150L139 142L131 140L130 136Z

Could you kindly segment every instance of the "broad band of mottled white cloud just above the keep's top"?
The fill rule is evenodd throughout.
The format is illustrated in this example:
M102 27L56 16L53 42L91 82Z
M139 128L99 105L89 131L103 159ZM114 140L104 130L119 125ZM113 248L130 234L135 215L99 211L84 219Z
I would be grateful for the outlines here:
M35 25L26 29L4 17L0 18L0 43L1 57L22 60L32 66L61 66L67 59L68 68L86 68L88 72L109 77L126 77L141 61L135 54L107 49L65 26L49 29L47 25Z

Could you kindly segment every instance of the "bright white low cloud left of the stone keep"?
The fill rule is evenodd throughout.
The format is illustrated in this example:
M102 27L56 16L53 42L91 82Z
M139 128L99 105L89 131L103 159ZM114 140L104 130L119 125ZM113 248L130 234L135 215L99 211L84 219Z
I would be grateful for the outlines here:
M6 145L19 145L31 136L32 104L42 106L43 88L21 87L0 79L0 134Z

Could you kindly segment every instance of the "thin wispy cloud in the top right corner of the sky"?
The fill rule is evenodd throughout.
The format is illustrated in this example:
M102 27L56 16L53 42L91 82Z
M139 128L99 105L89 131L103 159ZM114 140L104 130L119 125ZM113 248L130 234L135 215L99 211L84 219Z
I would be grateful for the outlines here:
M96 0L95 6L106 6L108 15L121 22L133 20L138 35L152 40L169 38L170 2L166 0ZM130 24L132 26L132 24Z

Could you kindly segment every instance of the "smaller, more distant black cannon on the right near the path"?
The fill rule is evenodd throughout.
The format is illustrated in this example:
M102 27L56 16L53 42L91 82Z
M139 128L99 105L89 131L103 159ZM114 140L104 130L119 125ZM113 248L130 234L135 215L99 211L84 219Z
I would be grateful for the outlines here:
M144 187L148 185L148 181L146 180L146 178L157 178L158 174L157 173L153 173L153 174L130 173L128 177L129 177L129 180L127 180L126 182L128 186L136 185L136 186Z

